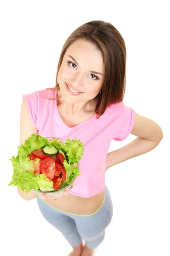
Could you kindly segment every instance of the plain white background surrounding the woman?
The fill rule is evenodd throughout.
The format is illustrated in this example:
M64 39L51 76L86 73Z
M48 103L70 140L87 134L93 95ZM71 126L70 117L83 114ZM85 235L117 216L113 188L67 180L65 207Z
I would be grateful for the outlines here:
M106 172L113 219L96 256L170 256L168 1L1 1L1 255L67 256L71 246L42 217L36 200L8 186L20 140L22 95L55 85L62 46L91 20L113 24L125 40L124 103L157 122L164 138L153 150ZM133 140L112 141L109 151ZM3 238L3 239L2 239ZM109 253L109 254L108 254Z

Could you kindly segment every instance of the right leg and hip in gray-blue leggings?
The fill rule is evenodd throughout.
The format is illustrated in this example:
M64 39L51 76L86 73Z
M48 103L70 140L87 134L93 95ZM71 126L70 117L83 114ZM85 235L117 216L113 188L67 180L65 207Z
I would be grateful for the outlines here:
M105 238L105 229L111 222L113 206L111 195L105 186L105 202L102 207L93 215L74 216L77 230L85 240L85 250L98 247Z

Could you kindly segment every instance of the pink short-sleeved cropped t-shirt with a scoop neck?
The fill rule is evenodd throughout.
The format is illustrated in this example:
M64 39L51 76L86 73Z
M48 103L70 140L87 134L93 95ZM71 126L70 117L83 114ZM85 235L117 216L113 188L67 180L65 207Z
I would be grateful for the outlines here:
M45 99L45 98L48 99ZM124 103L116 103L96 119L88 120L70 128L62 121L56 99L57 90L38 90L23 95L29 116L42 137L66 140L80 139L85 151L79 161L81 175L69 193L84 198L92 197L105 189L106 156L111 140L125 140L130 134L135 112Z

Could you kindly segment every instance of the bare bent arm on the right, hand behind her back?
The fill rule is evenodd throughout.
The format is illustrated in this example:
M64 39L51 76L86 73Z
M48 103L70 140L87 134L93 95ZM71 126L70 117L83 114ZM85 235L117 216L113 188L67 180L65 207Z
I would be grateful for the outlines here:
M137 138L124 147L107 154L106 170L118 163L153 150L163 138L161 127L156 122L137 113L135 113L131 134Z

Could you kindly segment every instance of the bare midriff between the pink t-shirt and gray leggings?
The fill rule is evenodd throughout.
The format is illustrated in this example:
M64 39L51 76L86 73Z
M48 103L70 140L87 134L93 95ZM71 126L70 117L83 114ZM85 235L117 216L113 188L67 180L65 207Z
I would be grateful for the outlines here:
M57 199L53 196L48 196L44 201L63 212L78 215L91 215L101 207L104 199L105 191L103 190L90 198L83 198L70 193L69 195Z

